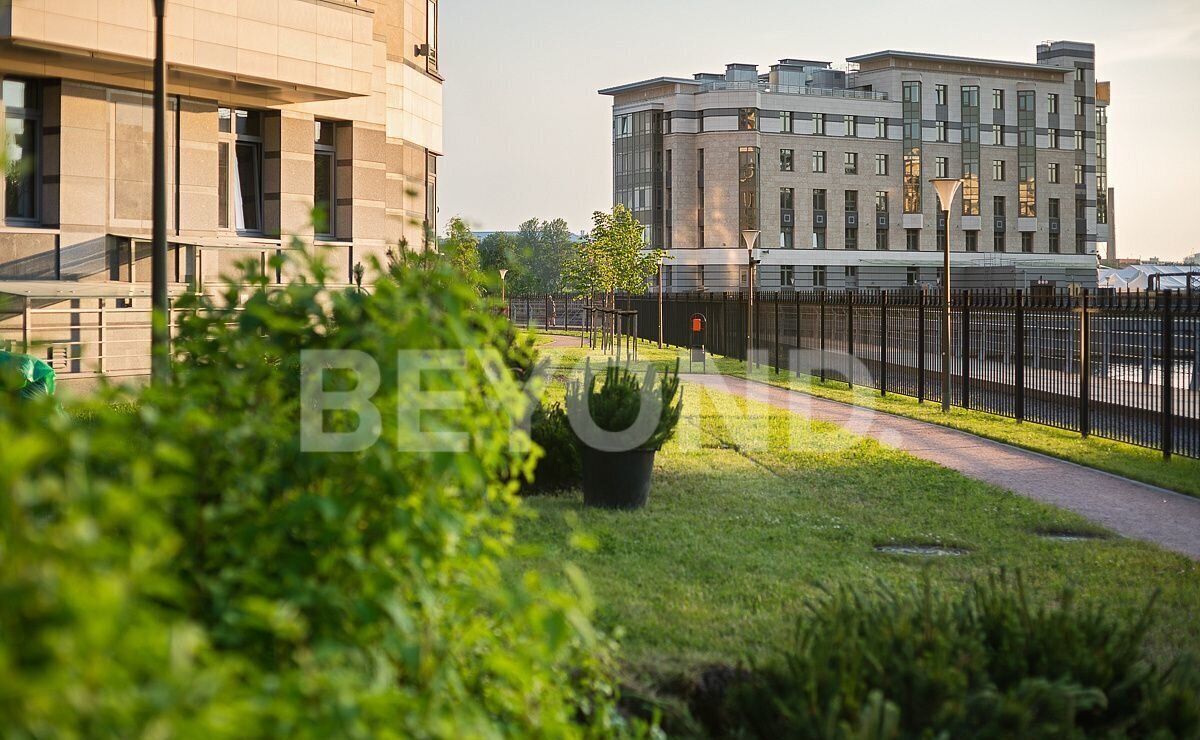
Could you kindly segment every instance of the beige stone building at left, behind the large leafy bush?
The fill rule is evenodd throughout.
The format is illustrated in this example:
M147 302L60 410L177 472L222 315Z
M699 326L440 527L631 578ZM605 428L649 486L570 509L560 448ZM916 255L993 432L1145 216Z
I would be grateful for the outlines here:
M424 243L443 151L438 0L167 6L175 291L293 235L346 282L368 255ZM148 318L152 29L151 0L0 2L0 339L48 342L36 354L67 377L149 366L121 326Z

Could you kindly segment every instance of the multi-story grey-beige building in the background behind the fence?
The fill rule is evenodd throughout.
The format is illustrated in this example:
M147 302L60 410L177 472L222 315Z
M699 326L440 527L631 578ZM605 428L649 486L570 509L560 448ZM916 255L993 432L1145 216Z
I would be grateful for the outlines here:
M1094 287L1108 239L1094 47L1037 64L878 52L766 74L660 77L613 97L613 198L668 251L667 290ZM946 224L931 178L961 178Z

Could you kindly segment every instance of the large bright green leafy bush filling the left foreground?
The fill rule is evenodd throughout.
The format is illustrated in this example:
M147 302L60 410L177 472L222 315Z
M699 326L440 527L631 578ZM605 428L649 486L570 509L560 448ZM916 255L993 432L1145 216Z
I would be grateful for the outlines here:
M444 266L370 294L245 270L180 306L174 383L132 409L0 408L0 735L620 732L578 576L503 576L532 464L506 323ZM379 362L378 444L301 449L306 349ZM398 447L406 349L496 353L426 379L463 392L434 415L463 450Z

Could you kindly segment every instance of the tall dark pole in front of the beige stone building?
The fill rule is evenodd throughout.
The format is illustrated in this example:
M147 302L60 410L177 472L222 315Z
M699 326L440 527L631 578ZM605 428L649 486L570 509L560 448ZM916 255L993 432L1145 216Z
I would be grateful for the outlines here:
M154 308L150 357L154 383L170 380L170 297L167 295L167 0L154 0L154 231L150 302Z

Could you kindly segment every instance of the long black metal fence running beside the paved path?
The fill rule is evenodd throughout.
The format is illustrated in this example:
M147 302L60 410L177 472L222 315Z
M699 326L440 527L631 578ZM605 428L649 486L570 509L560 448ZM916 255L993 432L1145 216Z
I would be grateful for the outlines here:
M745 360L746 299L665 295L664 341L686 347L700 313L707 349ZM920 289L758 293L755 362L941 402L942 300ZM658 296L618 303L658 339ZM510 315L569 329L583 306L514 299ZM1200 296L972 290L952 295L950 313L952 404L1200 458Z

